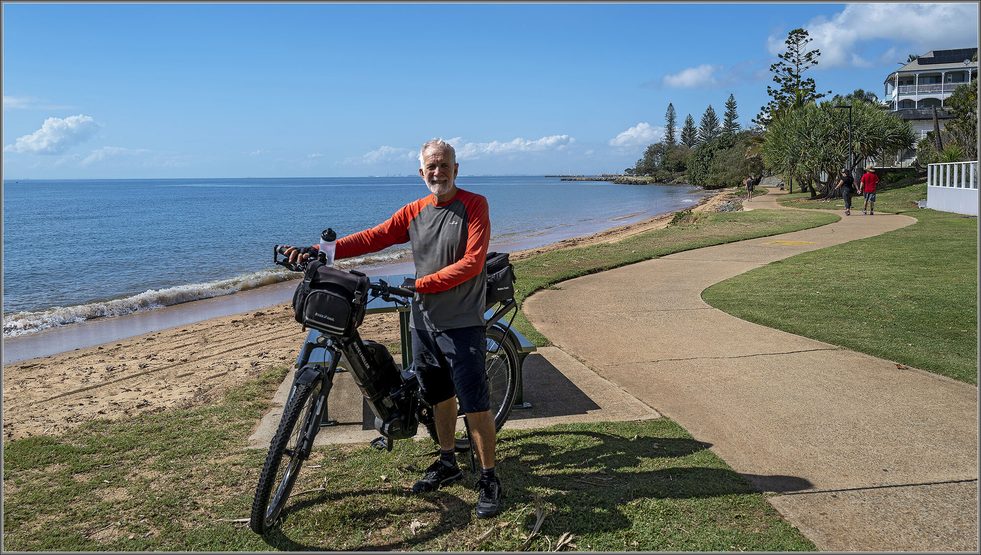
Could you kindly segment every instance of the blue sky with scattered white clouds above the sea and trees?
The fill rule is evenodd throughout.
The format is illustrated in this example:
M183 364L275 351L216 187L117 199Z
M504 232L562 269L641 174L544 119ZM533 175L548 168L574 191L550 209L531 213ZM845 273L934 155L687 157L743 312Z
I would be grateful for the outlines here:
M3 177L463 175L633 166L729 94L749 125L790 29L819 90L978 45L975 3L3 4Z

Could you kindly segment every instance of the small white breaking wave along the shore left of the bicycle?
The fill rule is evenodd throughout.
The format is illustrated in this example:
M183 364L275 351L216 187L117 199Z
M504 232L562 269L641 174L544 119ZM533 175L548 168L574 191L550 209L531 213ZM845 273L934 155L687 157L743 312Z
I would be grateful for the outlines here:
M137 295L68 307L52 307L37 312L21 311L4 315L3 336L16 337L47 328L78 324L95 318L123 316L189 301L230 295L262 285L299 276L284 268L262 270L207 283L190 283L166 289L149 289Z

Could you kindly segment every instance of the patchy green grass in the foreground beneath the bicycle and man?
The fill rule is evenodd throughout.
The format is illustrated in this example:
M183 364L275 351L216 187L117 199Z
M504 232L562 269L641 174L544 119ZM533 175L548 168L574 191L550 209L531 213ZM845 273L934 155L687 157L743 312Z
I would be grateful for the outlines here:
M582 551L814 550L668 419L502 431L503 511L486 521L473 516L474 476L411 494L433 460L432 440L399 441L390 453L320 447L282 526L259 536L238 522L265 459L245 438L285 374L271 371L206 407L7 443L4 548L516 551L527 542L542 551L568 532L568 549ZM536 504L544 518L529 541Z

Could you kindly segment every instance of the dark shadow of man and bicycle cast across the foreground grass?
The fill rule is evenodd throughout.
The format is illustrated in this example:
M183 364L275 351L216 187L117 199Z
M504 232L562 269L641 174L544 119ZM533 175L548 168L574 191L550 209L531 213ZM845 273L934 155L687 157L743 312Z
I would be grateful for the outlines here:
M632 423L618 423L628 425ZM638 426L638 431L644 428ZM646 429L648 432L650 429ZM683 430L678 429L681 433ZM757 489L797 491L811 487L806 479L785 476L737 474L708 450L709 444L690 437L632 435L576 429L506 430L498 440L498 475L503 485L502 513L490 522L520 520L525 527L535 524L536 496L548 508L542 533L558 535L575 530L582 534L620 533L649 526L657 515L681 522L685 527L701 526L703 521L725 514L734 505L749 501ZM431 549L434 540L459 540L477 535L474 531L473 496L463 497L460 488L476 481L465 473L462 485L443 488L436 495L414 497L408 488L395 492L411 500L402 509L382 501L378 490L360 488L341 493L324 493L284 511L303 518L313 507L336 512L325 531L345 527L378 537L382 542L362 544L372 551ZM755 488L753 487L755 486ZM392 493L390 490L389 494ZM463 494L466 495L466 494ZM385 539L373 533L386 528L392 513L400 521L425 522L419 533ZM436 519L434 519L436 517ZM696 524L690 524L696 523ZM382 523L378 525L376 523ZM404 527L403 527L404 528ZM298 533L306 532L296 530ZM289 534L289 535L287 535ZM293 537L290 537L292 535ZM264 539L277 549L289 551L323 550L312 538L280 527ZM397 535L397 531L396 531Z

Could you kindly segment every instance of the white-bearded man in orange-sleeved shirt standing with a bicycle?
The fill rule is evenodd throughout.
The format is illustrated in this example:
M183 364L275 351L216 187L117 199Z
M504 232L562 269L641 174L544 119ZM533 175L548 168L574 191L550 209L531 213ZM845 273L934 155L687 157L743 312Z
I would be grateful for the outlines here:
M463 477L456 464L454 432L457 403L470 424L481 459L477 516L500 509L500 480L494 475L496 435L485 372L484 263L490 239L488 202L457 188L453 147L433 139L419 152L419 175L433 194L407 204L378 227L337 240L336 257L349 258L412 241L416 278L402 287L416 291L412 302L413 366L427 402L434 407L439 460L413 485L417 493ZM292 262L316 254L316 245L289 248Z

